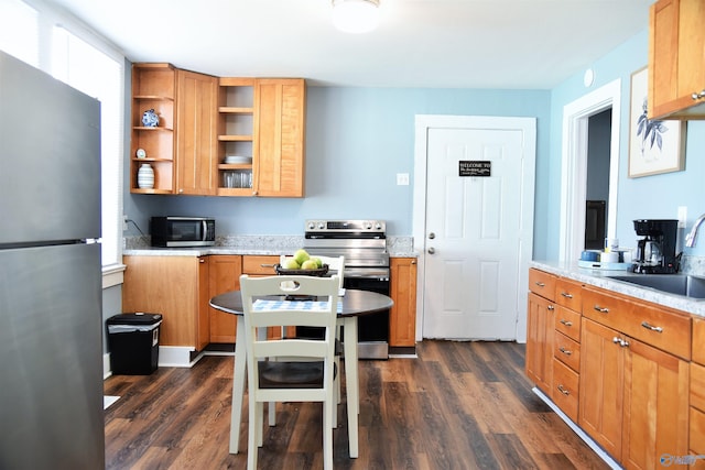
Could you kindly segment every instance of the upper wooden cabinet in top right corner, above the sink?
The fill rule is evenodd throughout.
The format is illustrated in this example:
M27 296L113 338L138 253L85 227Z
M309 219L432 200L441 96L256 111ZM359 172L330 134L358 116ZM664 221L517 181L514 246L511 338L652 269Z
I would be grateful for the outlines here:
M705 2L651 6L649 119L705 119Z

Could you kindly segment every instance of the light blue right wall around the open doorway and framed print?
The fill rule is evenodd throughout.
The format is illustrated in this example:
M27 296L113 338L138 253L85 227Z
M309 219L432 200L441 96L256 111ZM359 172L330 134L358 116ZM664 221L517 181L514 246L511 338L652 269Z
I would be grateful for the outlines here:
M644 30L611 53L590 65L595 84L583 85L583 72L571 77L551 92L551 131L547 174L546 259L558 256L561 197L561 145L563 107L617 78L621 79L621 119L619 144L619 189L617 199L617 238L620 244L636 247L634 219L675 219L677 207L687 207L687 229L705 212L705 121L687 123L685 171L640 178L628 177L629 161L629 87L631 74L648 63L649 35ZM538 208L539 209L539 208ZM540 210L540 209L539 209ZM705 227L702 232L705 233ZM681 239L683 234L681 233ZM540 253L540 250L536 251ZM685 254L705 255L705 236L698 244L684 249Z

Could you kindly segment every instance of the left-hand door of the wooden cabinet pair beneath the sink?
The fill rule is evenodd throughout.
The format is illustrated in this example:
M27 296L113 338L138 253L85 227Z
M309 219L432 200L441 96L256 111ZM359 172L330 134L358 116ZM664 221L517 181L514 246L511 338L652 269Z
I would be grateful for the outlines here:
M621 456L625 352L617 331L583 318L578 424L612 457Z

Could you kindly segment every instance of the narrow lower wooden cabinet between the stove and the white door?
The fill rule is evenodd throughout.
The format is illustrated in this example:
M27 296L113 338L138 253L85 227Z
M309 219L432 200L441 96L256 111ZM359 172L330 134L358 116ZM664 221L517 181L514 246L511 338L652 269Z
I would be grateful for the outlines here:
M416 259L390 260L390 296L394 300L389 313L389 346L416 345Z

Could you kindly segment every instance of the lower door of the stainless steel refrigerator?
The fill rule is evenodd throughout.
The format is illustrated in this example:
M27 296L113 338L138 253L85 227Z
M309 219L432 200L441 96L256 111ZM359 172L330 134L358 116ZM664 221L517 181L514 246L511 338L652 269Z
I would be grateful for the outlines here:
M0 250L0 469L101 469L100 245Z

